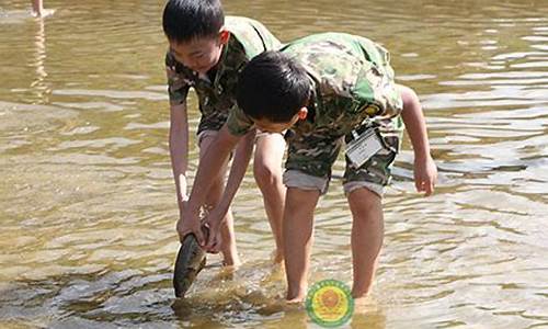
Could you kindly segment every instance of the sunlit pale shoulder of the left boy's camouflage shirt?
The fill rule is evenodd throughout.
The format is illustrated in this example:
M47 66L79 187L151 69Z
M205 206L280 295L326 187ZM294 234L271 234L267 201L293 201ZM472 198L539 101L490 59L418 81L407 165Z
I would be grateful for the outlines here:
M243 16L226 16L225 27L241 45L248 59L281 46L279 41L259 21Z

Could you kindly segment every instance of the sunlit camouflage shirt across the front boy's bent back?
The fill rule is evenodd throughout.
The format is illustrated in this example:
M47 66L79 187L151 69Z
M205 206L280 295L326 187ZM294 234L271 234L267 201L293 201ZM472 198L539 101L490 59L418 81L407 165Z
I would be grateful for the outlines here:
M393 82L388 52L373 41L352 34L322 33L297 39L283 48L298 58L316 82L316 91L327 117L344 112L362 113ZM397 103L397 94L390 94ZM391 105L391 104L390 104ZM368 109L378 113L381 109Z

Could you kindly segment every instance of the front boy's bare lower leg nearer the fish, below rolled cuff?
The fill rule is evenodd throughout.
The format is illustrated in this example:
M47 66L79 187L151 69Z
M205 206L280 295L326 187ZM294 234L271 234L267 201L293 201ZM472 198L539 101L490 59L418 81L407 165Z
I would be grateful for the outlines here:
M307 276L312 246L313 211L319 191L287 189L284 211L284 250L287 276L287 302L302 302L307 294Z

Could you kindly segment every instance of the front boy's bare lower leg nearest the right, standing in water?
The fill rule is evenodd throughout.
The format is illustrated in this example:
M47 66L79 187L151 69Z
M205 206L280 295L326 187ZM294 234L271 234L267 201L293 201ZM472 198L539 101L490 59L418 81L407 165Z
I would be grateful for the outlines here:
M373 284L378 256L383 248L384 219L380 196L369 190L356 189L349 195L352 212L352 296L366 296Z

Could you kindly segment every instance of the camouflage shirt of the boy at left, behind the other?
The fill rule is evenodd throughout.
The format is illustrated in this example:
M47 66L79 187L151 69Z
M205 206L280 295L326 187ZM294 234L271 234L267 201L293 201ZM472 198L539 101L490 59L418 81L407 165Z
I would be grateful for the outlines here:
M276 49L279 41L260 22L238 16L227 16L225 26L231 36L225 46L217 72L210 80L201 77L176 61L171 49L165 55L168 92L172 105L182 104L192 87L198 97L202 118L197 134L219 131L227 121L228 111L236 104L236 83L246 64L264 50Z

